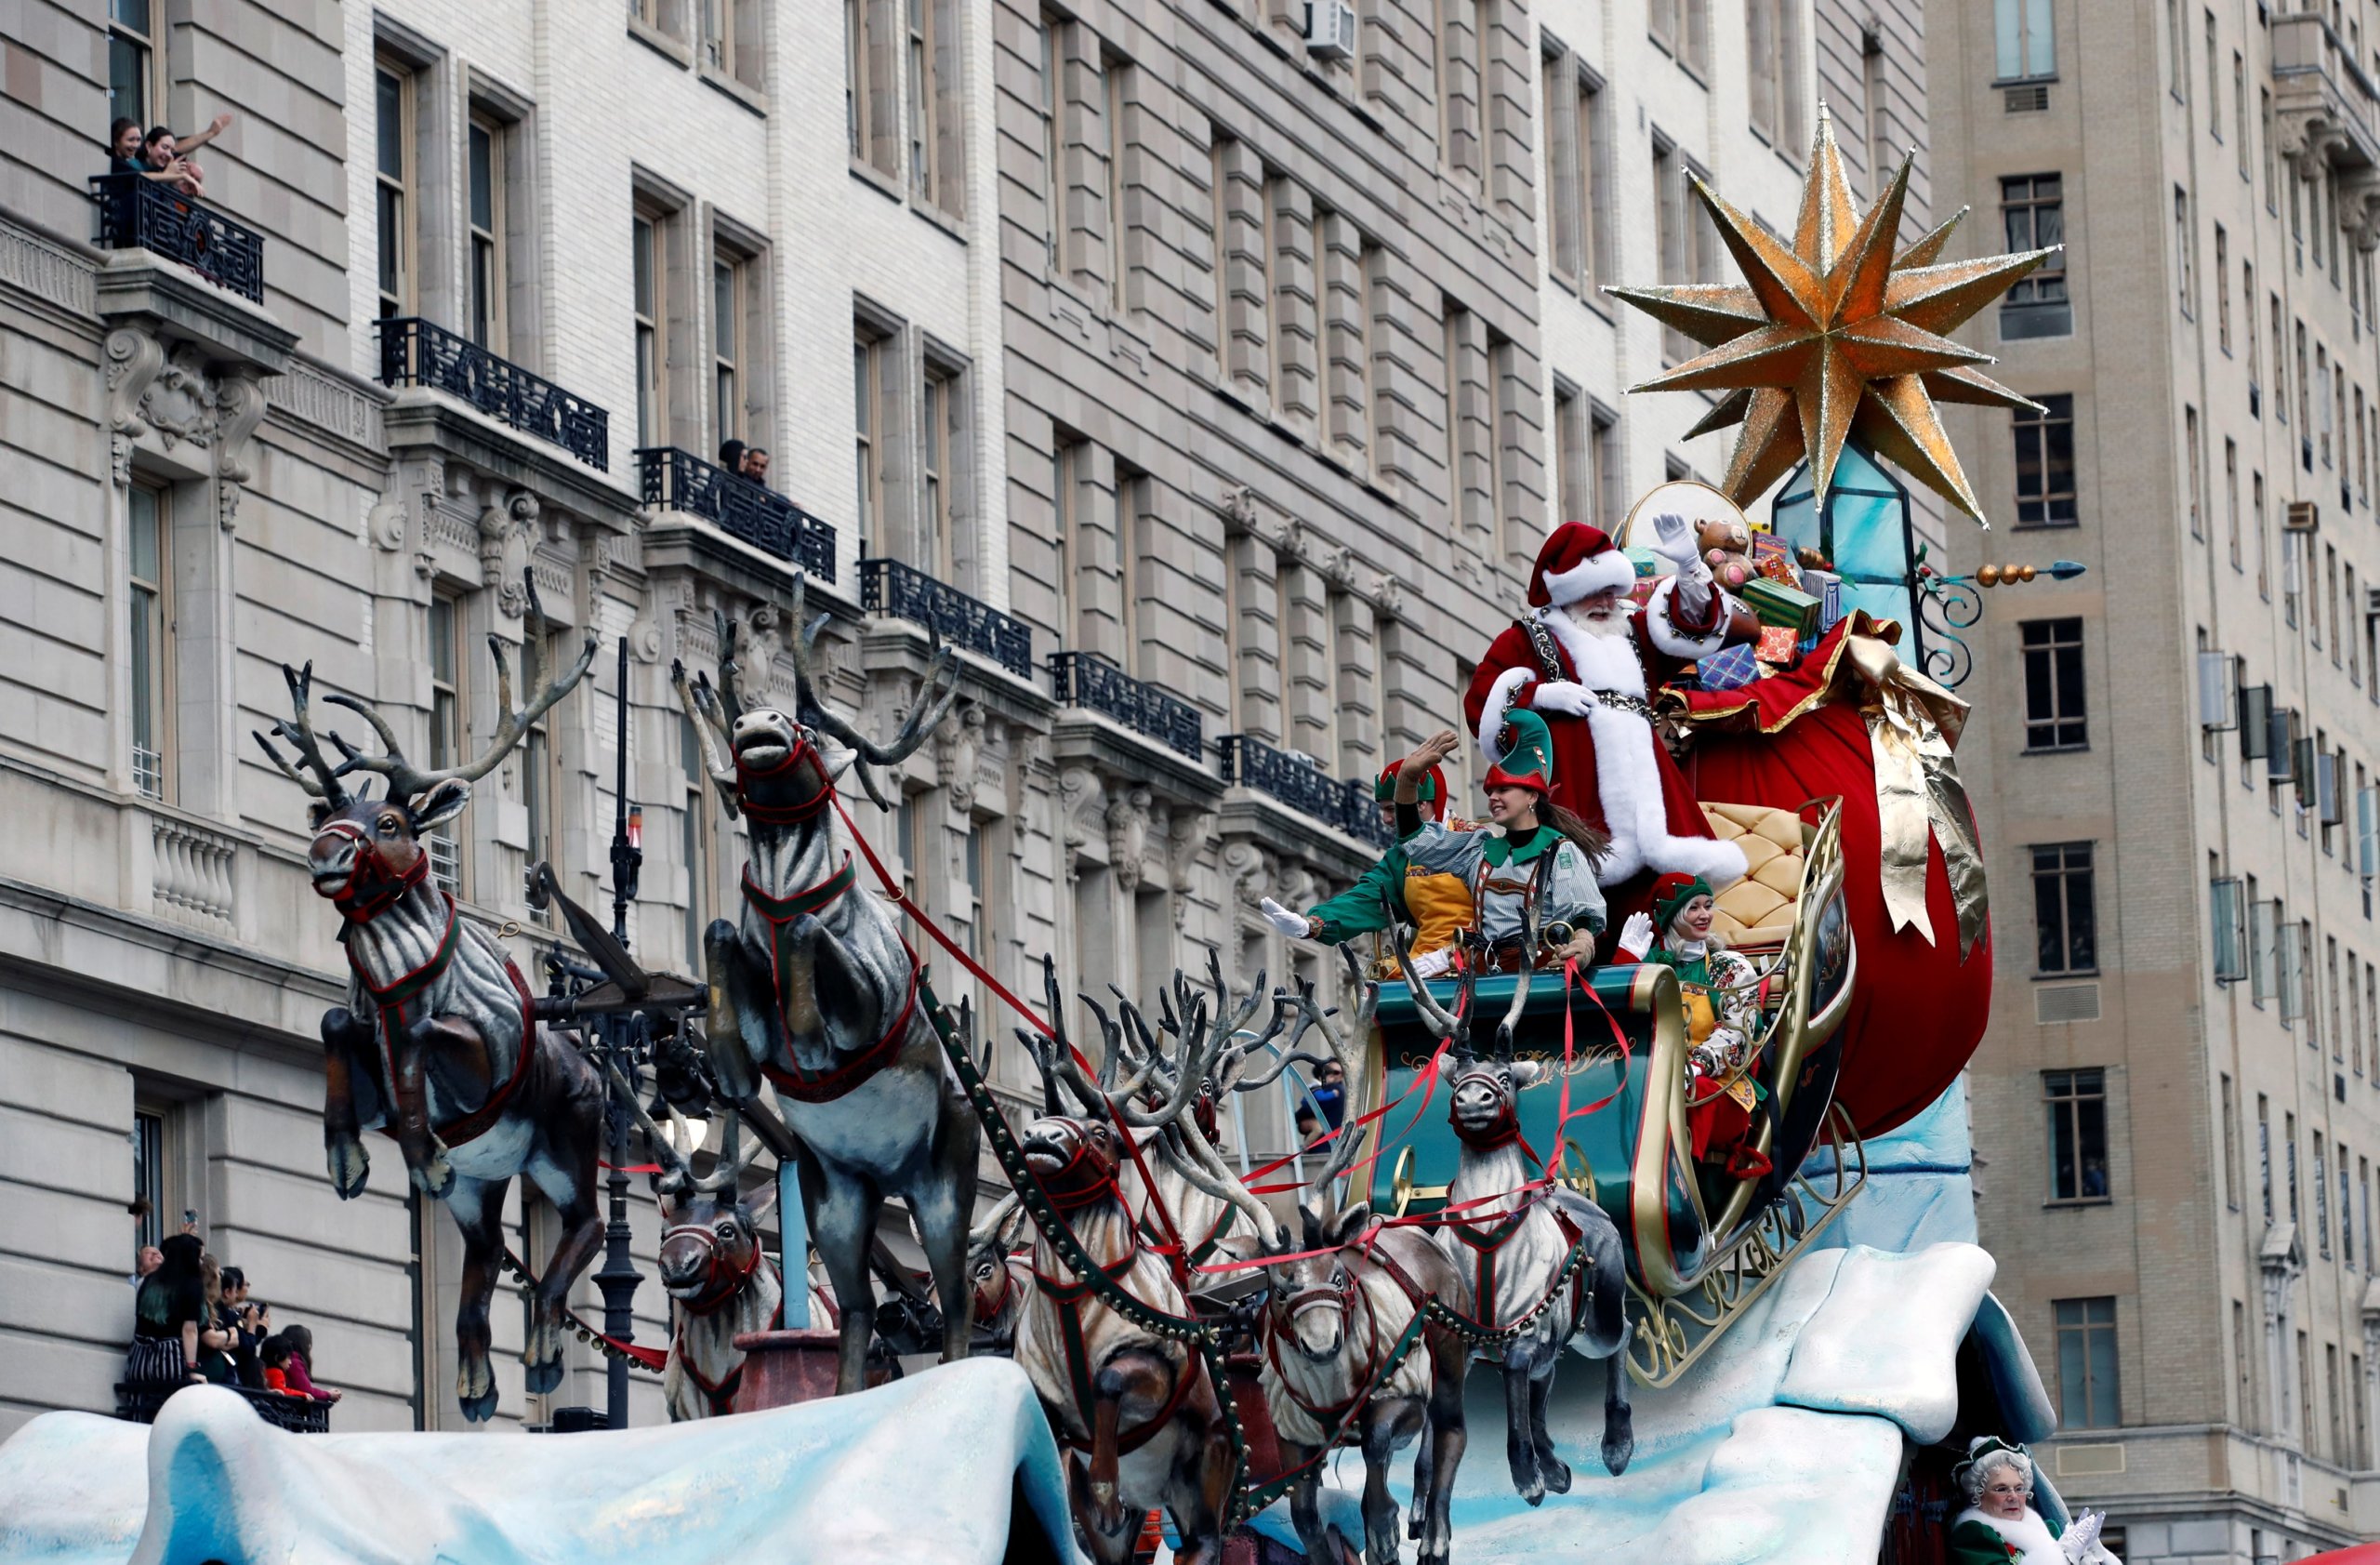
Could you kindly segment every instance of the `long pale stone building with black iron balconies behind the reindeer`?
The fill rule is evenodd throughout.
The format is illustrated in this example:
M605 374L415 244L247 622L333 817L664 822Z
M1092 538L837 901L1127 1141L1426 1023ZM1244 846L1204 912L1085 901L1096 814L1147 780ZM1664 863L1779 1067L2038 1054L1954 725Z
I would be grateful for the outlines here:
M605 905L624 755L631 943L690 972L740 850L669 672L726 617L790 698L800 567L864 727L914 700L928 626L962 648L897 808L854 810L1004 984L1035 993L1042 953L1092 993L1209 948L1242 984L1328 972L1254 905L1371 860L1371 774L1459 722L1549 522L1721 467L1680 441L1692 398L1623 405L1661 345L1592 286L1716 274L1687 167L1787 222L1821 88L1923 143L1923 67L1914 5L1321 12L12 12L0 1432L109 1403L133 1243L183 1208L314 1327L340 1427L457 1422L452 1224L390 1151L357 1203L321 1174L343 958L305 800L248 738L286 662L412 755L476 755L533 581L547 662L602 655L440 881L538 972L524 867ZM205 222L119 188L90 243L109 119L224 110ZM731 438L762 484L716 467ZM1009 1050L995 1074L1023 1084ZM1283 1146L1283 1108L1233 1136ZM550 1212L514 1220L543 1258ZM635 1234L650 1274L643 1201ZM543 1417L519 1332L500 1308L505 1417ZM600 1365L545 1403L600 1403Z

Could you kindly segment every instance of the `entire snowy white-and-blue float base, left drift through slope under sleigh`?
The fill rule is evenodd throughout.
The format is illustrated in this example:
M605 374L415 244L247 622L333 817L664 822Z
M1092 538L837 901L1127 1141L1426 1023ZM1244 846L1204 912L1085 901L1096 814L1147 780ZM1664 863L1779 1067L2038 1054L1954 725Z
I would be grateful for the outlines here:
M1461 1565L1875 1560L1904 1448L1942 1439L1961 1413L1966 1339L2006 1434L2049 1434L2049 1401L1975 1246L1961 1091L1866 1151L1868 1186L1825 1229L1828 1248L1778 1277L1685 1379L1635 1398L1623 1477L1592 1458L1602 1365L1573 1360L1549 1422L1576 1482L1526 1508L1504 1465L1502 1377L1473 1372ZM1404 1477L1411 1453L1397 1467ZM1361 1477L1342 1453L1335 1482ZM2063 1525L2047 1479L2035 1498ZM1352 1494L1328 1501L1357 1534ZM619 1434L293 1436L193 1389L155 1432L52 1413L0 1446L5 1565L1033 1560L1071 1558L1054 1544L1069 1536L1064 1505L1050 1429L1000 1360ZM1295 1544L1280 1510L1259 1525Z

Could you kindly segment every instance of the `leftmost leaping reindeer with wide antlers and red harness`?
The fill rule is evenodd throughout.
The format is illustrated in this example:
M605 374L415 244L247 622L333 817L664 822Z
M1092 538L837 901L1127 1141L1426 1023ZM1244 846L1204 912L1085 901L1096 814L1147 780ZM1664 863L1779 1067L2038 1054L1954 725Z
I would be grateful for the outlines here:
M531 586L521 648L531 684L543 674L543 646L545 612ZM469 765L414 767L371 705L336 693L324 700L362 715L381 736L381 755L362 755L331 734L340 753L333 765L314 736L314 665L281 669L290 717L276 722L274 734L298 762L257 734L274 767L314 798L307 869L317 896L345 917L347 1003L321 1017L331 1186L343 1201L364 1193L371 1160L362 1131L378 1129L395 1136L414 1184L455 1215L464 1246L455 1398L469 1420L495 1415L488 1301L505 1253L505 1189L514 1174L528 1174L562 1212L562 1239L538 1282L521 1351L531 1391L562 1384L564 1296L602 1241L595 1196L602 1086L576 1048L536 1029L521 972L488 931L457 912L452 896L431 884L424 843L428 831L462 815L471 784L578 684L595 660L595 638L588 636L578 660L521 710L512 705L502 643L488 636L488 648L502 719ZM386 796L350 796L345 779L357 772L388 779Z

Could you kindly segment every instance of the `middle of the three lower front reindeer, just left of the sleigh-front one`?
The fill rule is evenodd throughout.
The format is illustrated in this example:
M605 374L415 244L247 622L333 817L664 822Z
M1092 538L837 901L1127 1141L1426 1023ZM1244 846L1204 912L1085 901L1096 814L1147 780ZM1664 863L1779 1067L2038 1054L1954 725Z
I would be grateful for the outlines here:
M1295 993L1283 991L1280 1003L1299 1015L1290 1046L1319 1031L1330 1058L1352 1079L1359 1055L1354 1039L1368 1031L1380 986L1364 977L1354 953L1340 950L1361 996L1349 1027L1330 1024L1311 984L1299 984ZM1373 1382L1380 1379L1390 1351L1414 1324L1426 1298L1468 1313L1471 1289L1426 1232L1376 1229L1368 1203L1338 1208L1338 1181L1354 1167L1361 1143L1364 1136L1354 1131L1333 1139L1323 1165L1299 1196L1295 1246L1288 1229L1233 1177L1230 1167L1190 1134L1169 1131L1159 1141L1159 1155L1207 1198L1228 1201L1242 1212L1264 1253L1278 1258L1266 1265L1271 1289L1259 1320L1264 1358L1257 1377L1273 1415L1273 1432L1280 1436L1283 1460L1292 1467L1309 1465L1290 1491L1290 1522L1307 1558L1338 1558L1321 1520L1321 1455L1354 1415L1364 1448L1366 1565L1395 1565L1399 1558L1397 1501L1388 1494L1388 1472L1390 1460L1416 1434L1421 1451L1414 1458L1411 1536L1421 1541L1423 1565L1442 1565L1454 1544L1454 1470L1468 1441L1464 1424L1468 1353L1452 1332L1426 1327L1421 1343L1378 1391Z

